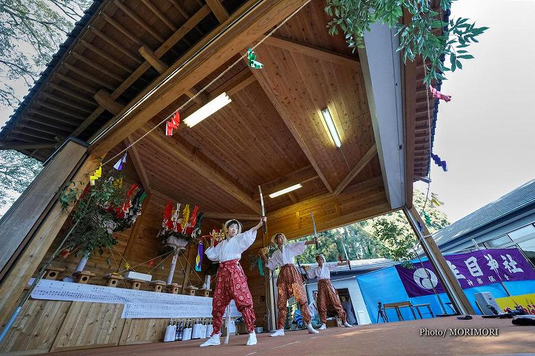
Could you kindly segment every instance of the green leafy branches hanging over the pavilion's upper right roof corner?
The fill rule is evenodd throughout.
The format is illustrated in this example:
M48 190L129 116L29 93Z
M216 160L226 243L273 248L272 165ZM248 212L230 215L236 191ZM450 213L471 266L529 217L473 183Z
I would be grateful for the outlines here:
M475 23L461 17L444 23L443 12L450 7L451 0L440 0L438 12L431 9L429 0L327 0L325 12L333 16L327 25L329 34L344 32L353 50L364 47L364 34L374 23L396 29L400 41L397 51L403 53L403 62L421 55L426 63L424 82L429 85L433 80L446 79L445 71L462 69L461 60L473 58L466 48L478 42L477 36L488 29L475 27ZM404 10L411 16L407 25L402 21ZM443 34L436 34L441 27ZM450 66L442 63L447 56Z

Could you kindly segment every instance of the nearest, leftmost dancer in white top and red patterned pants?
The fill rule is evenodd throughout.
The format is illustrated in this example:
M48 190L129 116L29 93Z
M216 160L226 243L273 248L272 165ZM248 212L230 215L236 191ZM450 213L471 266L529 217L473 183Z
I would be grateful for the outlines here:
M237 220L228 220L225 224L226 240L215 245L215 241L212 239L209 249L206 249L206 256L212 261L219 262L219 268L217 269L217 281L212 300L213 333L209 340L200 344L201 347L221 344L219 337L223 314L232 299L241 312L249 331L246 345L257 344L257 335L254 333L252 296L239 259L241 253L246 251L254 242L257 230L262 226L263 221L266 221L265 216L260 218L260 223L257 226L241 233L241 224Z

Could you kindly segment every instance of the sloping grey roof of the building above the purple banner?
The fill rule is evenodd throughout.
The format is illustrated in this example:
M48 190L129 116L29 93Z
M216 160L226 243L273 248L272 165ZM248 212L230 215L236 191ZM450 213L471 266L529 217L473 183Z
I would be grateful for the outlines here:
M532 204L535 204L535 179L437 231L433 239L438 246L442 246Z

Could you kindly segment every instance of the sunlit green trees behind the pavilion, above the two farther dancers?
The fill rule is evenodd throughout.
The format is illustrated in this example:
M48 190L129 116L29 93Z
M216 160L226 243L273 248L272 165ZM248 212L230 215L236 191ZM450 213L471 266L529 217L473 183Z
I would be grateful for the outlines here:
M449 225L449 220L439 209L431 207L426 194L414 190L414 207L421 212L424 204L429 215L431 232ZM418 240L414 235L405 214L393 212L377 218L338 227L319 234L318 251L309 246L300 257L300 263L316 263L316 253L323 253L329 262L337 261L338 256L346 259L345 244L349 259L388 258L394 261L406 262L414 258L414 246ZM312 236L305 236L299 240L309 240ZM416 246L417 248L417 246Z

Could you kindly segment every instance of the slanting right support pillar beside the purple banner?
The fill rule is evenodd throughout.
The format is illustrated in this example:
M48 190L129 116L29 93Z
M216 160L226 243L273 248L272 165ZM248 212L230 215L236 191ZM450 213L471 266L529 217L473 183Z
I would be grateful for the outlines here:
M438 280L442 283L451 304L460 314L475 314L475 311L468 301L468 298L466 298L466 294L464 294L459 281L457 281L453 271L449 268L446 259L444 259L444 256L438 249L435 240L433 240L431 233L427 227L425 227L425 223L420 218L416 209L414 207L403 207L403 212L405 213L407 220L409 220L414 233L418 236L420 245L422 246L425 255L427 255L427 258L429 258L429 262L433 265ZM418 223L423 231L420 231Z

